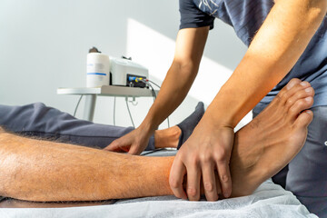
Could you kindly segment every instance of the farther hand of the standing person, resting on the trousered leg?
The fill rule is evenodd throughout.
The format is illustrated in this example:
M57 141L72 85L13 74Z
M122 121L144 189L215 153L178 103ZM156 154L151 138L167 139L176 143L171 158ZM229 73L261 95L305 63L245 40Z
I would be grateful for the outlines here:
M129 134L114 140L104 148L111 152L128 152L128 154L141 154L149 143L152 133L144 131L142 128L136 128Z

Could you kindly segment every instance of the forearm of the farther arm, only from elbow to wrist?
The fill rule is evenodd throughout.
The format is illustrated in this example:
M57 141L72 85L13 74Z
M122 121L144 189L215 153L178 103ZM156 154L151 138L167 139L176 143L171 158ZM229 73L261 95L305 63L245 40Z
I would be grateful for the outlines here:
M141 127L149 131L163 122L183 102L197 73L192 64L183 65L173 61L160 92L146 115Z

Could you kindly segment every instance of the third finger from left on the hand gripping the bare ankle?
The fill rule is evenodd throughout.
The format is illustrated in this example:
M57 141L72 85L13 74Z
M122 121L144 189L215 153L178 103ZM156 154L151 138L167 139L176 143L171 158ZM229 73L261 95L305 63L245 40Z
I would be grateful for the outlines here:
M203 172L203 189L207 201L213 202L218 200L217 187L214 176L213 163L208 162L202 166ZM218 184L220 185L220 183Z

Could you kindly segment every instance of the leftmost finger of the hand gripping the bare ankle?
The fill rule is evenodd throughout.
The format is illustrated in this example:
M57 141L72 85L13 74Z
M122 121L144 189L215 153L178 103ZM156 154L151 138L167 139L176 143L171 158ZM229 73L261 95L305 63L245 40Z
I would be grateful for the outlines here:
M183 162L178 158L175 158L169 175L169 185L176 197L186 200L187 196L183 190L183 177L185 173L186 168Z

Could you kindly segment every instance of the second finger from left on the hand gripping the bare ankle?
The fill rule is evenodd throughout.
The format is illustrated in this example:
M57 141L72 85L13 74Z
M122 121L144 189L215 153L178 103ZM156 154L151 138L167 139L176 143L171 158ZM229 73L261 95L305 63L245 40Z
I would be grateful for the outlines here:
M187 184L186 193L190 201L199 201L200 199L200 179L201 170L200 167L193 163L186 166L187 171Z

